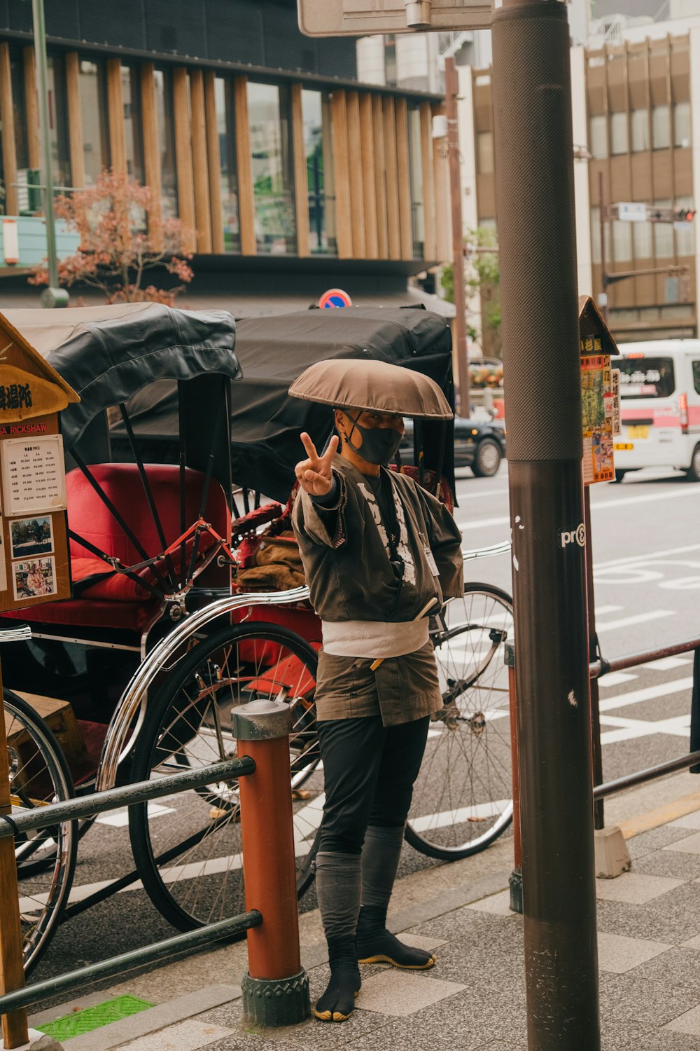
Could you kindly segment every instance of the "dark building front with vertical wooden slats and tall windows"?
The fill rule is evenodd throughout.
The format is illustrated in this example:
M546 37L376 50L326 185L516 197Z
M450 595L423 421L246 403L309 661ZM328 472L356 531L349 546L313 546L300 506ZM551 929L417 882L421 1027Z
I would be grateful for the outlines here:
M446 259L446 162L431 138L441 98L360 84L355 41L305 38L296 17L295 0L47 3L57 185L90 186L112 168L150 186L163 215L193 231L195 273L347 262L405 286ZM0 0L0 120L12 215L40 166L23 0Z

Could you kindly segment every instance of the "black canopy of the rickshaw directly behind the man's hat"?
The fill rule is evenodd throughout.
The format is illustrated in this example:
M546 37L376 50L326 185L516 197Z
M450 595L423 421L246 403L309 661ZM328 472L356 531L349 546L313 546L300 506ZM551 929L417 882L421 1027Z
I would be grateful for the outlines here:
M333 430L328 407L289 396L291 384L309 366L333 358L372 358L400 365L433 379L454 406L451 333L444 317L423 309L347 307L241 318L236 356L243 373L233 391L231 458L234 481L284 502L294 466L303 453L300 431L321 448ZM177 434L177 398L172 383L145 388L128 405L145 458L172 461ZM453 487L453 424L422 424L424 463ZM112 428L119 453L124 430Z

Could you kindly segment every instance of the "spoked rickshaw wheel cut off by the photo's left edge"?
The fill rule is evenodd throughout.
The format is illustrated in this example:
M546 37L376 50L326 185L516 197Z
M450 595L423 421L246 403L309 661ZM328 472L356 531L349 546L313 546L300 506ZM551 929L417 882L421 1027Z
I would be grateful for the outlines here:
M17 694L3 689L13 815L70 799L72 778L59 742ZM76 868L75 822L15 840L24 970L36 966L61 922Z

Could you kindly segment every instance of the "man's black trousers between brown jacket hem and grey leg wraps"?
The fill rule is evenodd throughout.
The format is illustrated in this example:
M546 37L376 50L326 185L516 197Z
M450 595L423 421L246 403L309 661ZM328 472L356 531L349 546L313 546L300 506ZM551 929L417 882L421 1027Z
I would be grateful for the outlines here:
M319 850L360 853L367 825L404 824L430 717L383 726L380 716L318 723L325 778Z

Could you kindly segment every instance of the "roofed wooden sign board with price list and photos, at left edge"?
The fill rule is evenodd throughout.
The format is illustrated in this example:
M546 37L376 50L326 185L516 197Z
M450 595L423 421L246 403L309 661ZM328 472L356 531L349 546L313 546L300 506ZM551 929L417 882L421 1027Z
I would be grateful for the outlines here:
M70 597L59 413L78 394L0 313L0 611Z

